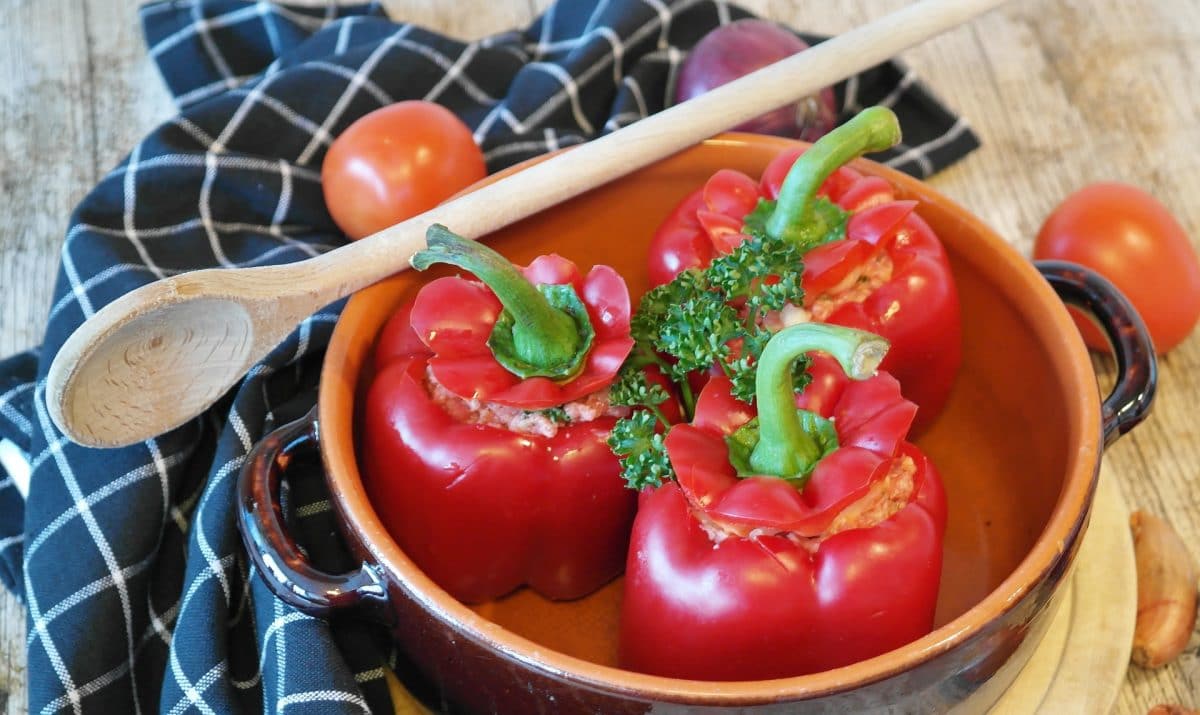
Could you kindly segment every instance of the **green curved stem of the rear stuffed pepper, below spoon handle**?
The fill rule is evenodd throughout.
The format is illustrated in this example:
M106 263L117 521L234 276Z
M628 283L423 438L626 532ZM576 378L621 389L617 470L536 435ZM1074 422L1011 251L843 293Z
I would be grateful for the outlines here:
M883 151L899 140L900 121L886 107L868 107L817 139L787 172L775 210L767 218L767 234L788 240L809 218L812 199L830 174L852 158Z

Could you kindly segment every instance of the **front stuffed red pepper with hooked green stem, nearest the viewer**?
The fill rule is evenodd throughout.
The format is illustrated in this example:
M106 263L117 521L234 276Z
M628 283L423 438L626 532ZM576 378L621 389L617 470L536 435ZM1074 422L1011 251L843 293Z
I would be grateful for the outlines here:
M880 655L932 627L946 498L905 434L916 405L868 377L886 343L798 325L756 377L757 415L725 377L666 451L625 565L620 663L703 680L799 675ZM792 361L814 379L796 396ZM853 380L846 378L842 371ZM864 379L865 378L865 379Z

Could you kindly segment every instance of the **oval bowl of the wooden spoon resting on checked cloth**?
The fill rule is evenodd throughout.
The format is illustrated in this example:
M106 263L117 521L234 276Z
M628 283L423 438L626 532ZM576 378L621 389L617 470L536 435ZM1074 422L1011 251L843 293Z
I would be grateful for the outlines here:
M308 314L265 300L260 270L175 276L98 311L50 365L50 417L82 444L122 446L208 409Z

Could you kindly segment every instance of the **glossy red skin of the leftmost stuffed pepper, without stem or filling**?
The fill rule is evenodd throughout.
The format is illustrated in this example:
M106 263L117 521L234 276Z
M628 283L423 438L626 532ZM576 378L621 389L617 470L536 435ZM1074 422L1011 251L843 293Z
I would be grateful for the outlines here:
M431 398L427 371L463 397L530 410L611 383L632 344L620 276L607 266L581 276L558 256L522 272L534 284L575 287L595 331L582 372L565 381L506 372L487 350L500 301L480 282L448 277L385 325L366 397L372 504L404 552L466 602L522 584L551 599L599 588L620 572L636 507L605 444L613 417L542 437L460 421Z

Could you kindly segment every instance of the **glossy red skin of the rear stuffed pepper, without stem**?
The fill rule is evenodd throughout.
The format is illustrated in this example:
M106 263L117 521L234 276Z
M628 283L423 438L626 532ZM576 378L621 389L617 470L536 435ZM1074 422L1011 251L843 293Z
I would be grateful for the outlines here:
M744 217L760 199L779 198L802 149L776 156L760 181L722 169L686 197L654 234L649 251L652 286L670 282L690 268L740 244ZM860 301L836 307L822 319L874 332L892 343L881 369L892 373L905 397L920 405L916 431L941 413L961 362L958 289L934 230L917 214L916 202L896 200L892 185L839 167L817 196L850 211L846 238L804 256L804 307L811 311L830 290L852 283L854 271L878 254L890 260L890 277Z

